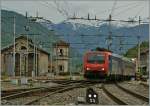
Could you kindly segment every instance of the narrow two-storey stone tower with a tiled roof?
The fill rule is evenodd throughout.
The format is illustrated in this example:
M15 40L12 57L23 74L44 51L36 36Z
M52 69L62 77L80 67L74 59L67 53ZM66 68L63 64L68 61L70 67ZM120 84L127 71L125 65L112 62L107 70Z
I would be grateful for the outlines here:
M53 62L55 73L65 73L69 70L69 43L62 40L53 44Z

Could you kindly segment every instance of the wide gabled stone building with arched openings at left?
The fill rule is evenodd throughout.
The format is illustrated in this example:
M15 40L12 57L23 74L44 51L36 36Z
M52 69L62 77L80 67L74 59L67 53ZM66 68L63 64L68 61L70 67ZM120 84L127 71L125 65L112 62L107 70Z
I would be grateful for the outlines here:
M13 71L13 47L8 45L1 50L1 70L8 76L39 76L48 72L49 53L34 46L31 39L19 36L16 38L15 72ZM28 48L28 49L27 49ZM28 50L28 52L27 52ZM35 52L37 51L37 52Z

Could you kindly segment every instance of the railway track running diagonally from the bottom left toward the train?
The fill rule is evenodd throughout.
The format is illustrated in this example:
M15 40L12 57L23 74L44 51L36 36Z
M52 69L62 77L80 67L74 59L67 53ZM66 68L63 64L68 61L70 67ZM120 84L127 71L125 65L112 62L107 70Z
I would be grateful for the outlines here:
M39 89L27 90L27 91L15 93L12 95L3 96L1 99L13 102L13 101L18 101L18 99L20 99L20 98L23 98L26 101L26 98L27 98L28 100L26 102L24 101L22 104L24 104L24 105L32 104L44 97L54 95L56 93L65 92L67 90L71 90L74 88L83 87L87 84L91 84L91 82L67 81L67 82L61 83L61 85L59 85L59 86L54 86L54 87L50 87L50 88L41 87ZM33 98L32 98L32 96L33 96Z

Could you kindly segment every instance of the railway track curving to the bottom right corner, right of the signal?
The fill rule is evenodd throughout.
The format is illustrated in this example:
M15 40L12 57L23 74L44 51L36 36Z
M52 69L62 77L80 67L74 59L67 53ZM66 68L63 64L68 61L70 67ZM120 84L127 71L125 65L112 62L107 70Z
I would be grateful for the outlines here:
M111 99L113 100L114 102L116 102L118 105L133 105L133 104L136 104L136 102L133 102L134 101L138 101L138 104L148 104L149 103L149 98L148 97L145 97L145 96L142 96L140 94L137 94L129 89L126 89L122 86L120 86L119 84L115 83L115 84L111 84L112 86L111 87L107 87L107 84L102 84L101 87L99 87L100 89L103 90L103 92ZM116 89L116 87L117 89ZM108 89L109 88L109 89ZM114 89L115 92L114 92ZM120 95L118 96L117 93L121 93L121 94L126 94L128 95L127 98L126 95ZM139 102L141 101L141 102Z

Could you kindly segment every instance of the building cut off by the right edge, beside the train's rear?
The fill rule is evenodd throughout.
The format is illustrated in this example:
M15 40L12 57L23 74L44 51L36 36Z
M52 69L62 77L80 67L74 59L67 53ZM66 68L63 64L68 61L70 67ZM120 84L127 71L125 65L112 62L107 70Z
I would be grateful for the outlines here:
M149 49L145 49L140 53L140 67L144 74L149 73Z

